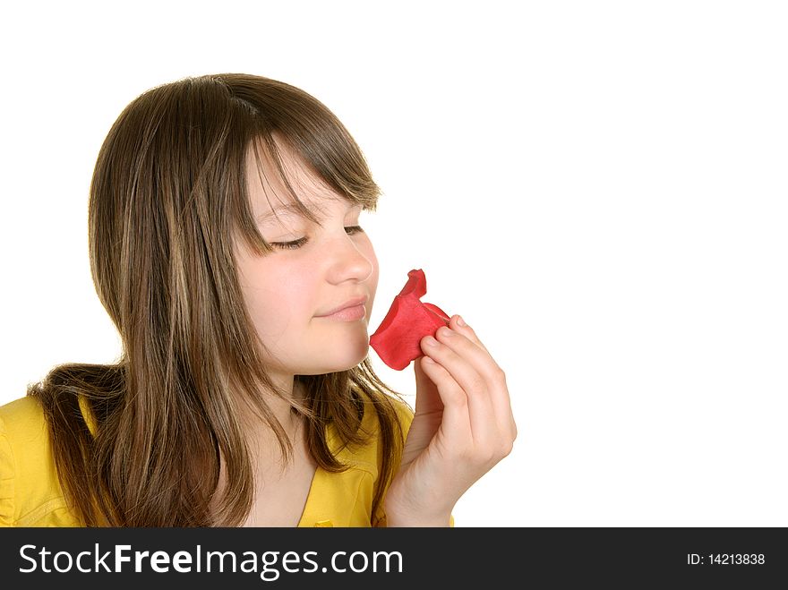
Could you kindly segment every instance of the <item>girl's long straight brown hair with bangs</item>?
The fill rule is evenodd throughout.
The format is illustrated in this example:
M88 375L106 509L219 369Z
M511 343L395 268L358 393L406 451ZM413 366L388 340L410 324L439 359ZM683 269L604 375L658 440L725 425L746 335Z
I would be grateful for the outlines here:
M375 209L380 190L347 129L281 81L223 73L163 84L135 98L107 134L90 184L90 268L123 353L112 364L58 365L28 387L44 407L64 494L85 526L243 524L253 470L238 396L291 457L259 395L290 392L264 370L266 348L234 258L235 239L259 255L272 251L254 221L245 156L253 146L267 150L290 187L274 134L340 195ZM305 206L303 213L315 219ZM360 428L364 406L376 411L384 449L376 514L402 447L391 398L398 393L369 357L347 371L295 379L305 397L294 411L328 471L346 466L327 445L327 424L347 445L364 444L373 434ZM95 423L85 422L81 405ZM222 458L227 488L214 503Z

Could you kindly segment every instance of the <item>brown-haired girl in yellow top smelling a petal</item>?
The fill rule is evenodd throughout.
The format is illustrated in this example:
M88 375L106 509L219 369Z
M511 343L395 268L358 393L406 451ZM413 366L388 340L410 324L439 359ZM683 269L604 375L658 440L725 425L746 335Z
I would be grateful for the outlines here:
M450 525L510 452L509 392L459 316L421 341L415 415L373 372L358 217L378 195L335 115L283 82L207 75L133 100L88 219L123 353L0 408L0 524ZM333 314L348 304L362 317Z

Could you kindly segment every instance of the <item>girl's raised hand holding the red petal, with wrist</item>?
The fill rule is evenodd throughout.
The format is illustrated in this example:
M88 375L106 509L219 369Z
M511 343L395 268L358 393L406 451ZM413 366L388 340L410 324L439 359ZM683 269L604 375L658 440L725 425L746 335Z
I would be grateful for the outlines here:
M437 341L420 341L415 415L386 494L389 526L448 526L460 496L509 455L517 437L506 376L458 320L439 329Z

